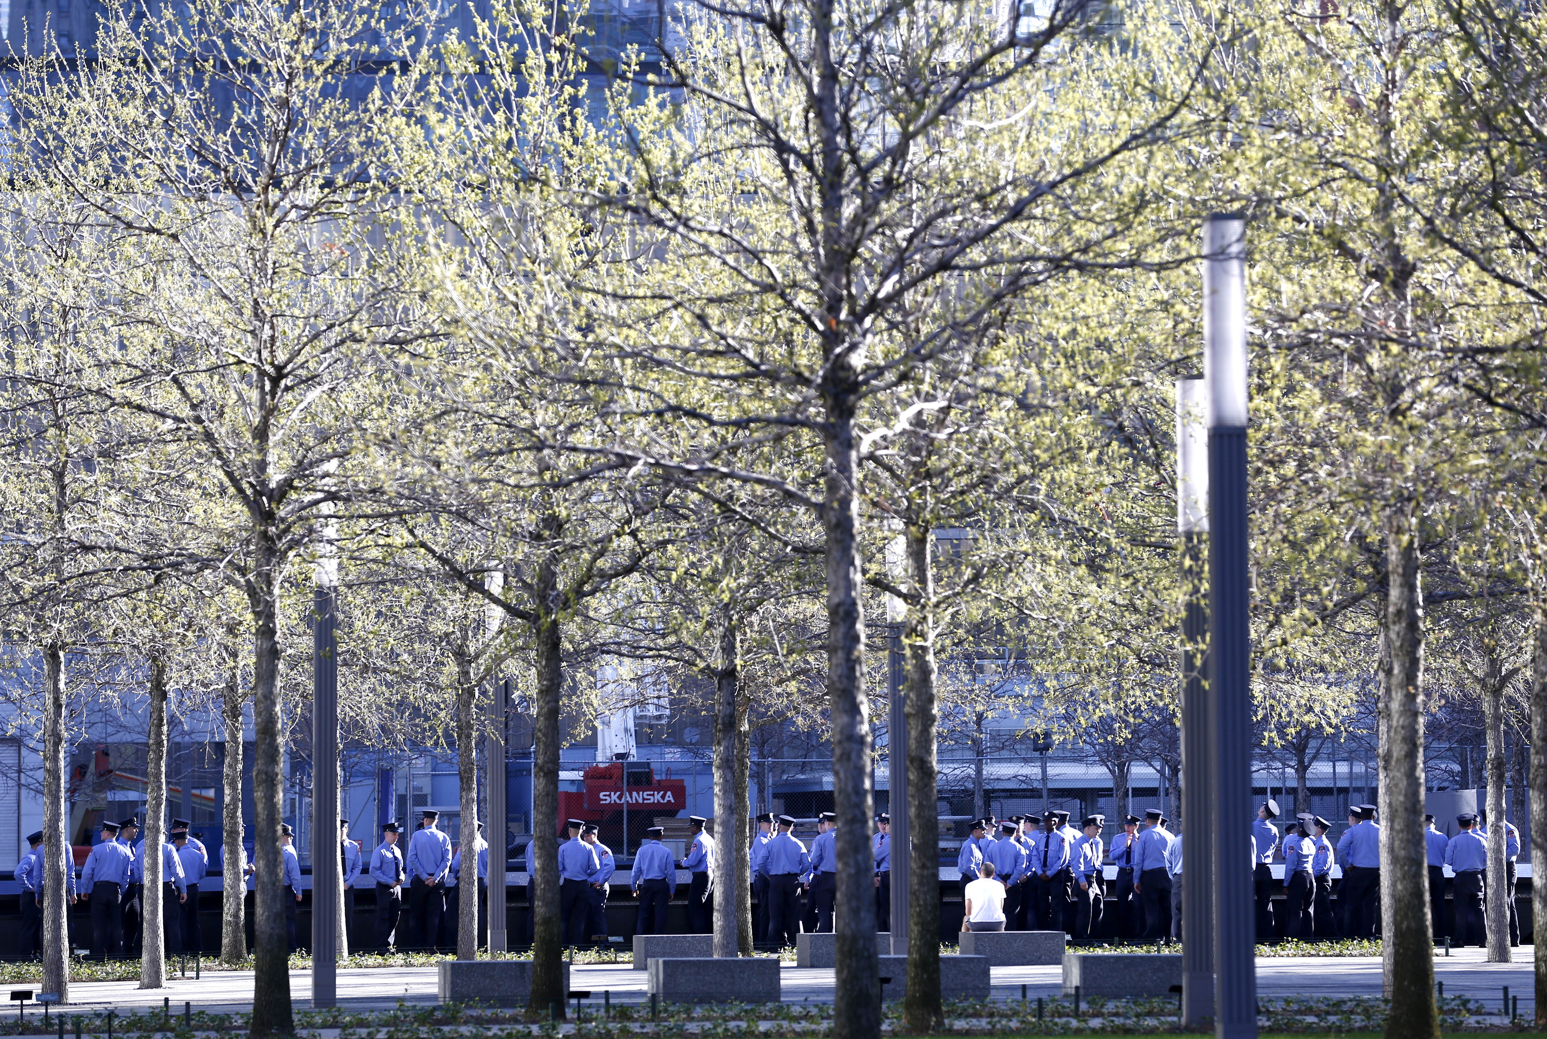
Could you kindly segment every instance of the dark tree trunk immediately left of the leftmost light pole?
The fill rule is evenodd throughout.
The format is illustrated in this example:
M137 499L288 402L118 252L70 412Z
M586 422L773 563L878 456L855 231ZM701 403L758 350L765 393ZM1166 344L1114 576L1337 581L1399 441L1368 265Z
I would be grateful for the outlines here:
M285 862L280 827L285 824L285 776L280 751L280 646L277 626L278 559L271 551L258 561L252 578L252 1025L254 1039L295 1034L291 1011L289 946L285 937Z

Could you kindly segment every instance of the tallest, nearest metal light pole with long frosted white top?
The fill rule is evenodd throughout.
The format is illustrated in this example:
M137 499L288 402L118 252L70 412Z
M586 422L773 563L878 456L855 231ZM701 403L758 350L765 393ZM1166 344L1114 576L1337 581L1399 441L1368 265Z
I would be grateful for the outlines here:
M1245 221L1204 225L1208 381L1208 711L1214 723L1214 971L1219 1039L1256 1036L1252 872L1252 629L1247 610ZM1185 904L1185 903L1183 903Z

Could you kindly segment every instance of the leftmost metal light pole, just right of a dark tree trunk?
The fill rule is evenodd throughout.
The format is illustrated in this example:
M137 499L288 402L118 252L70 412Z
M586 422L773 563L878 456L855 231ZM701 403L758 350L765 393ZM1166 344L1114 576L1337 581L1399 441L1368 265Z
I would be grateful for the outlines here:
M339 958L339 559L317 559L311 629L311 1005L337 1005Z

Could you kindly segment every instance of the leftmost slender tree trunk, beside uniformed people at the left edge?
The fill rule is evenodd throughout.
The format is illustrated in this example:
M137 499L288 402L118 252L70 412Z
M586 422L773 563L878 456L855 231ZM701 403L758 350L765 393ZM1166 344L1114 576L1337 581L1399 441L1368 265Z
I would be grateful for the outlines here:
M65 807L65 661L59 643L43 646L43 989L70 1002L70 822Z

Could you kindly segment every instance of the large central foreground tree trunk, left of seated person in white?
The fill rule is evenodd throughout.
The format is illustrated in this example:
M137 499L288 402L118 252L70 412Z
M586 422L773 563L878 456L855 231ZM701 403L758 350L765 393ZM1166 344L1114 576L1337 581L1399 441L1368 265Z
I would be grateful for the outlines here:
M843 361L835 361L843 367ZM843 378L843 376L834 376ZM860 571L859 441L854 392L828 396L826 534L828 711L832 726L832 802L837 814L837 912L832 923L835 985L843 993L832 1010L835 1039L880 1034L876 974L876 886L871 856L874 790L869 700L865 694L865 576ZM873 997L871 994L876 993Z

